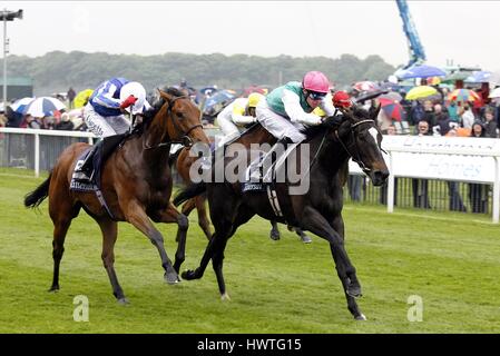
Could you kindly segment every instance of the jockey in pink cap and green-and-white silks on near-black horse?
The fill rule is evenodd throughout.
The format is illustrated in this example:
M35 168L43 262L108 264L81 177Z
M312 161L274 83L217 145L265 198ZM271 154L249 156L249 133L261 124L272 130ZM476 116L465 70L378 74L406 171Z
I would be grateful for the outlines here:
M284 145L286 149L287 144L298 145L305 139L301 130L323 122L323 118L312 112L314 109L321 108L326 117L335 115L336 110L332 100L326 98L330 87L330 81L324 73L310 71L302 82L287 82L267 95L266 100L261 100L256 108L257 120L278 139L264 157L261 167L278 146ZM259 179L258 175L259 169L254 170L251 177Z

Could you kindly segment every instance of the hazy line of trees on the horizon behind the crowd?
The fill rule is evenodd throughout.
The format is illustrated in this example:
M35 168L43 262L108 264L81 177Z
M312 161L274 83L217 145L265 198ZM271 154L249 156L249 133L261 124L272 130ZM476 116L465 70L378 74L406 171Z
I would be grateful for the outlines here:
M360 80L384 80L395 71L380 56L360 59L342 55L326 57L290 56L258 57L169 52L157 56L87 53L52 51L41 57L9 56L8 75L33 79L36 96L95 88L111 77L125 77L141 82L147 89L165 85L188 85L200 88L217 85L239 90L251 85L272 88L290 80L300 80L310 70L321 70L337 88Z

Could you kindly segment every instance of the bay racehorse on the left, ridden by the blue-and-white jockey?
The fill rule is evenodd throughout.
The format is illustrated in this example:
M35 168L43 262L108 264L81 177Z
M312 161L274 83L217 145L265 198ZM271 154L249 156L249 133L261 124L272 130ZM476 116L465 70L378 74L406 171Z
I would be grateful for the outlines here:
M117 221L128 221L146 235L158 249L166 281L175 284L179 280L188 220L170 202L173 179L168 156L173 142L189 146L198 141L208 144L199 121L198 108L177 89L158 90L156 101L153 102L151 110L145 113L144 121L136 126L102 166L101 192L112 218L94 192L69 189L77 159L89 145L78 142L62 151L47 180L24 198L24 206L31 208L49 198L49 214L55 227L53 279L50 290L59 289L59 265L66 234L81 208L100 227L104 267L119 303L125 304L127 299L114 268ZM174 265L165 250L164 238L151 220L177 222L178 246Z

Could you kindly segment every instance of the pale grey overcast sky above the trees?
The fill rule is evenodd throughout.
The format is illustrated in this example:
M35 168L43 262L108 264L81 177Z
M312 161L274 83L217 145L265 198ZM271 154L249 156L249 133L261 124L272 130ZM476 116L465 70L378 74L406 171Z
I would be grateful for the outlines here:
M408 1L428 63L500 71L500 1ZM396 2L384 1L2 1L10 53L49 51L379 55L408 62ZM2 29L3 32L3 29ZM3 34L3 33L2 33Z

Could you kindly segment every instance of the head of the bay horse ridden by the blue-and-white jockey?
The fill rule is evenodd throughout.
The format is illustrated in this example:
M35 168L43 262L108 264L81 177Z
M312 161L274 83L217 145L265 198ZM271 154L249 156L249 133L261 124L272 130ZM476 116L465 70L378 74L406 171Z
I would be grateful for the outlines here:
M200 122L200 111L188 96L175 88L158 89L153 107L156 112L150 130L155 138L148 139L148 146L163 142L183 144L186 147L195 142L209 144Z

